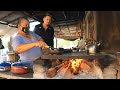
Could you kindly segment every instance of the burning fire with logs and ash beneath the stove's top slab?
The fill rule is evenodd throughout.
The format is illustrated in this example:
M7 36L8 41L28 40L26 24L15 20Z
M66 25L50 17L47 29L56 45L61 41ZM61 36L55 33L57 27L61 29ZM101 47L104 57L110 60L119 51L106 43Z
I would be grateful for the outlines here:
M93 60L92 62L90 62L85 59L63 60L56 66L48 69L48 71L46 72L46 76L53 79L102 78L102 70L96 62L97 60Z

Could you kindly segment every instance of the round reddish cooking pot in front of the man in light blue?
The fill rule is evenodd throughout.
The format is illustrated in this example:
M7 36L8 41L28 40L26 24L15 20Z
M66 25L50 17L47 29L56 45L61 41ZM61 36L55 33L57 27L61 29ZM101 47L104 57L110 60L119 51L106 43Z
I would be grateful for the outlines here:
M26 74L29 72L29 65L24 62L15 62L11 65L11 72L13 74Z

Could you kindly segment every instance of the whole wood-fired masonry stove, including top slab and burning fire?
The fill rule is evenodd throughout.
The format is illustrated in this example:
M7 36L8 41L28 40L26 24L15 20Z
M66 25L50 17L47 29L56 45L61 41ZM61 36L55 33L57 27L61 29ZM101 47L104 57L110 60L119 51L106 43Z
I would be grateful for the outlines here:
M34 62L34 78L39 79L102 79L102 70L98 61L105 58L104 54L66 53L62 55L41 55ZM53 67L44 69L41 61L51 59L61 60Z

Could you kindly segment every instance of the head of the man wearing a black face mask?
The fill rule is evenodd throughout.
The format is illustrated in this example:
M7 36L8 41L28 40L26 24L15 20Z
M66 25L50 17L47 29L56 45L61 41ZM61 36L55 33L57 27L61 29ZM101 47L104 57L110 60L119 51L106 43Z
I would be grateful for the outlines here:
M18 20L18 29L26 34L29 33L29 20L26 17Z

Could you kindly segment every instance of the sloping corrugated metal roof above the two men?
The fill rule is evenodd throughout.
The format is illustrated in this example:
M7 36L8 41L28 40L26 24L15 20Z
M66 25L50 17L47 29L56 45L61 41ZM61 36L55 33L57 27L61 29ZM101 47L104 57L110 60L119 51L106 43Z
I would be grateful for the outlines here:
M0 11L0 35L7 35L6 32L14 33L20 17L27 17L30 22L41 22L45 13L50 13L53 17L51 25L55 29L55 37L79 37L80 22L85 16L84 11Z

